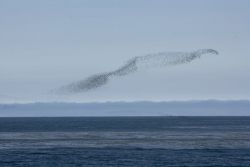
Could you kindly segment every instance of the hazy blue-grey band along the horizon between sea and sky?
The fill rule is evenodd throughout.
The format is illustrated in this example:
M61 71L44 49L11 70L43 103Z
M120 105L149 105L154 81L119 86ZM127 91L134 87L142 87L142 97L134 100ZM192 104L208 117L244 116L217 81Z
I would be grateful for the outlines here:
M0 104L0 117L250 116L250 101Z

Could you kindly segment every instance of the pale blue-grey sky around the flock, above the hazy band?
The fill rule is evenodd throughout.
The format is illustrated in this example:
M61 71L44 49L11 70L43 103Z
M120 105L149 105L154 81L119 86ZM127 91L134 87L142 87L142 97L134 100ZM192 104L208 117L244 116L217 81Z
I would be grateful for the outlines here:
M250 99L248 0L1 0L0 103ZM219 55L51 90L128 59L211 48Z

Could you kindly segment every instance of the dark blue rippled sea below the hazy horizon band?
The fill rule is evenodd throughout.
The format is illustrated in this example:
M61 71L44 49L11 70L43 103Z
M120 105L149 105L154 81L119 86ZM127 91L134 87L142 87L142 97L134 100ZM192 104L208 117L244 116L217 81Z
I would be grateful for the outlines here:
M250 117L0 118L0 167L250 167Z

